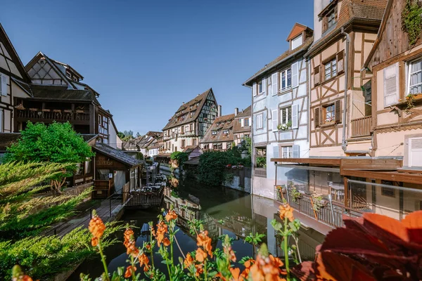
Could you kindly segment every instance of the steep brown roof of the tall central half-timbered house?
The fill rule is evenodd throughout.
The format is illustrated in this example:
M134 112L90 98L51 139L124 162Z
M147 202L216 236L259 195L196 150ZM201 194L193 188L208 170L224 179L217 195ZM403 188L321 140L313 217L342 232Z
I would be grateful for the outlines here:
M195 98L189 100L187 103L184 103L183 105L181 105L179 109L177 109L177 111L174 113L172 118L170 118L169 122L167 123L167 125L165 125L162 131L165 131L167 129L172 129L176 126L181 126L183 124L187 124L189 122L195 121L199 117L200 110L202 110L203 106L205 105L205 101L207 100L207 96L209 94L214 96L214 93L212 92L212 88L207 89L207 91L199 94ZM184 115L186 116L186 118L184 119L181 119L181 116L183 115L177 116L177 113L181 112L182 110L186 110L186 112L184 112ZM191 112L193 112L192 117L191 117Z

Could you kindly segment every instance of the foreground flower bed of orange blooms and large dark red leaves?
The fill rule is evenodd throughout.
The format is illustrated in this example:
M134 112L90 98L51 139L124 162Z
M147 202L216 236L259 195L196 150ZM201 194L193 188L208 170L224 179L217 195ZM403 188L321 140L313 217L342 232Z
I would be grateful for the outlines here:
M164 210L163 210L164 211ZM222 247L212 249L212 239L200 221L190 223L191 233L196 236L197 249L184 253L179 247L173 209L158 216L158 223L149 223L150 237L140 247L136 246L134 232L127 226L124 246L127 248L127 267L108 273L106 256L103 255L103 236L107 226L94 216L89 223L91 245L103 261L101 280L420 280L419 256L422 249L422 211L409 214L397 221L379 214L364 214L362 218L345 218L345 227L328 233L323 244L316 249L315 261L300 261L298 247L289 246L288 239L300 228L288 204L279 207L281 221L274 219L271 225L281 237L281 249L290 259L272 256L265 244L260 244L256 257L236 256L231 239L224 235ZM347 239L344 239L347 237ZM259 242L259 240L257 240ZM178 247L181 256L174 256ZM155 267L153 253L161 256L167 267L162 272ZM235 265L235 262L242 268ZM141 273L143 271L143 273ZM19 267L13 270L15 278L29 278ZM144 277L143 277L144 275ZM89 281L89 275L81 275ZM98 278L96 280L99 280Z

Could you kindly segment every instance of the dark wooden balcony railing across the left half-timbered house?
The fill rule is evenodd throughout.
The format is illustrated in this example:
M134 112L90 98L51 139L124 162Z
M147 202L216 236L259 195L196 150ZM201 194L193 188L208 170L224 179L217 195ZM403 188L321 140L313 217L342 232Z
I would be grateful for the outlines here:
M29 108L17 110L18 118L24 119L48 119L56 121L82 121L89 122L89 112L74 112L72 110L39 110Z

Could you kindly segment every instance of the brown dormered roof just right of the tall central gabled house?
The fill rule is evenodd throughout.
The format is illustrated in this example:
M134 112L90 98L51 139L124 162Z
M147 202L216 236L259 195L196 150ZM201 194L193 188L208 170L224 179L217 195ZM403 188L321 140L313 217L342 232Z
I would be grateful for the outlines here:
M234 141L233 124L234 114L217 117L210 128L207 129L207 132L200 140L200 143L222 143ZM229 130L229 133L223 133L225 130ZM212 135L213 131L216 131L217 134Z

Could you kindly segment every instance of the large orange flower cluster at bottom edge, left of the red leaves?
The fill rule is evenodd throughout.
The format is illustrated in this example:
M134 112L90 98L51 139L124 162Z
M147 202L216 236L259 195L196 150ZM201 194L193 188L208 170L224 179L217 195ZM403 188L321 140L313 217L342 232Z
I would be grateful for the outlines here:
M257 255L257 260L250 266L250 274L254 281L286 281L280 277L283 274L281 270L283 262L279 258L274 256L263 256L262 254Z

